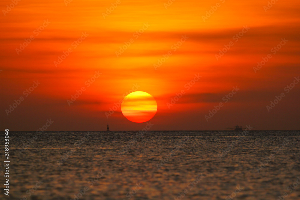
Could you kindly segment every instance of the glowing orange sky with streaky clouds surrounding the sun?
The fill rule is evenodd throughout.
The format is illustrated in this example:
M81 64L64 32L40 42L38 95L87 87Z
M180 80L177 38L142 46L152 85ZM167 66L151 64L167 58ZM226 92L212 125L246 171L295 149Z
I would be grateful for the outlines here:
M298 0L278 0L268 10L268 1L261 0L176 0L167 8L167 0L66 1L21 0L9 11L12 1L0 1L2 129L37 130L51 119L47 130L105 130L107 123L111 130L141 130L146 123L128 121L120 106L105 115L134 87L157 101L151 130L221 130L235 124L300 129L300 84L284 90L300 72ZM103 15L112 4L116 8ZM282 38L288 41L273 54ZM16 50L26 40L28 46ZM119 54L125 43L130 46ZM230 49L217 60L224 45ZM59 60L63 52L67 56ZM253 67L268 54L272 57L255 73ZM163 55L168 58L155 67ZM195 74L201 77L187 90ZM37 80L26 96L23 91ZM240 90L225 103L236 86ZM71 95L82 87L73 102ZM280 93L285 96L268 112ZM7 115L20 97L24 100ZM206 120L219 103L223 107Z

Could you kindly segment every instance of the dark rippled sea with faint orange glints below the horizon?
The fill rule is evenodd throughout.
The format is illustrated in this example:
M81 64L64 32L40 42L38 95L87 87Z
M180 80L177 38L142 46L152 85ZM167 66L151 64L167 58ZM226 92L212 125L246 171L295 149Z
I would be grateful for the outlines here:
M10 132L0 199L299 200L300 131L241 133Z

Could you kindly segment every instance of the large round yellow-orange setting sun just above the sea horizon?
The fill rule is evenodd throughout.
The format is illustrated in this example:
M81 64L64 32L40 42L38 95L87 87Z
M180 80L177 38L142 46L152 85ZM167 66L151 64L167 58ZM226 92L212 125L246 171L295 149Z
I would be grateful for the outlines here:
M147 92L136 91L128 94L122 101L121 111L132 122L149 121L157 111L157 103Z

